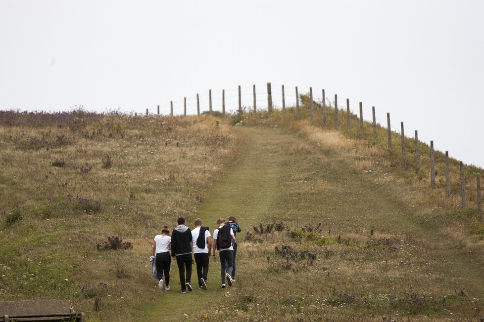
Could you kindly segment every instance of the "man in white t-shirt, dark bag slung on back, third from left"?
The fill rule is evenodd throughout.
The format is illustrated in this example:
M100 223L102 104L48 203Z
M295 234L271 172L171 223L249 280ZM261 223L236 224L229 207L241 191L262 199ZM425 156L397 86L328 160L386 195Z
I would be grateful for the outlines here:
M200 218L195 219L195 228L192 230L194 242L194 259L196 264L196 276L198 288L207 289L208 264L212 250L212 239L208 227L202 227Z

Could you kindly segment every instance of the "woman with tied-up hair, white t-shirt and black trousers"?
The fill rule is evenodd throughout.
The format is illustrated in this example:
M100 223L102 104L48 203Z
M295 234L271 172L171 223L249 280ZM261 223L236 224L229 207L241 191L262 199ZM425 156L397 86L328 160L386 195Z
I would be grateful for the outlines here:
M171 237L168 226L164 226L161 235L156 235L153 240L153 256L156 256L156 278L159 280L158 288L163 289L163 274L165 274L165 290L170 290L170 266L171 266Z

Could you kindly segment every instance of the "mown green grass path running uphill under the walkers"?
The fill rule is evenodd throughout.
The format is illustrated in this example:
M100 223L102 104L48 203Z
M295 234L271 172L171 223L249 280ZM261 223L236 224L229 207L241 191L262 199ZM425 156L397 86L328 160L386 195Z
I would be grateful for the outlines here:
M242 227L239 238L243 238L246 227L263 221L264 215L276 201L278 181L282 167L278 154L283 153L287 137L279 129L267 127L244 127L240 131L245 137L242 160L214 184L209 200L200 209L203 225L210 227L211 234L219 217L235 216ZM193 224L189 223L192 227ZM243 256L239 254L238 256ZM218 260L218 257L217 257ZM176 263L172 263L170 279L172 290L160 294L159 303L152 308L143 321L182 321L190 317L195 308L210 305L211 299L220 296L220 264L210 261L205 291L180 294L180 282ZM192 284L195 287L196 271L193 268ZM213 308L211 308L213 309Z

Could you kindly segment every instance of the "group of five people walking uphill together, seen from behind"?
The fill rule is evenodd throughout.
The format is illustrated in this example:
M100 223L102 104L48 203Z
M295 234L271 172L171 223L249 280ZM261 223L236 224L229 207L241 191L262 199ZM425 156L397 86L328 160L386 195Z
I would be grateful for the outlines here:
M216 250L219 251L220 276L222 288L232 286L236 279L236 234L241 228L235 217L229 217L228 222L224 218L217 220L217 228L210 235L208 227L202 226L200 218L195 219L195 228L191 230L185 225L185 218L177 220L178 226L173 230L171 237L167 226L164 226L160 235L153 239L153 259L156 268L158 288L170 290L170 267L171 261L176 260L180 275L181 292L193 290L192 264L196 264L196 275L199 289L207 289L208 266L210 256L216 261ZM171 256L170 256L171 253ZM192 255L193 254L193 255ZM226 282L227 281L227 282Z

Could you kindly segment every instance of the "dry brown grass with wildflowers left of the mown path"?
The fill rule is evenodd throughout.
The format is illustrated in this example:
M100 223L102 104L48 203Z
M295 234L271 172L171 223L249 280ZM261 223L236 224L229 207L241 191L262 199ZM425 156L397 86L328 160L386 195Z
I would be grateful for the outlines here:
M196 216L237 134L204 116L2 117L0 299L68 298L89 321L134 320L156 298L152 237ZM133 248L98 251L109 236Z

